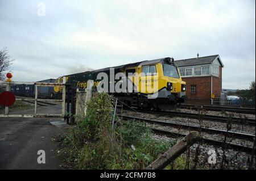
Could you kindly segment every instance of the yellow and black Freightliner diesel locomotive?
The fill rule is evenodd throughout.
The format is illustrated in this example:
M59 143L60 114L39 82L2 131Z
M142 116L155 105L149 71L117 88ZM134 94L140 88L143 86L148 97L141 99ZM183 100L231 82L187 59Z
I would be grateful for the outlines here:
M94 89L114 95L127 106L170 110L186 99L186 83L170 57L64 75L56 83L85 90L89 79ZM57 94L61 88L56 86L54 91Z

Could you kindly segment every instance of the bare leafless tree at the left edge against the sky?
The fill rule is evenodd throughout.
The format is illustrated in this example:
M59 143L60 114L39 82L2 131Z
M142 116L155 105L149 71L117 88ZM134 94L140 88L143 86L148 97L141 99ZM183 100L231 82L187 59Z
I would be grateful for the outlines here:
M13 64L13 59L8 54L7 48L0 50L0 79L3 79L4 73L7 70L10 70L10 65Z

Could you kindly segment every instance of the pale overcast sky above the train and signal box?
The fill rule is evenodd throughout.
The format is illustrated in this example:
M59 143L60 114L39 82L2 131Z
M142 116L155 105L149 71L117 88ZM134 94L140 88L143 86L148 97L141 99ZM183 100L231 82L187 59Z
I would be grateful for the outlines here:
M199 52L220 54L223 88L246 89L255 79L255 1L0 0L3 47L14 81Z

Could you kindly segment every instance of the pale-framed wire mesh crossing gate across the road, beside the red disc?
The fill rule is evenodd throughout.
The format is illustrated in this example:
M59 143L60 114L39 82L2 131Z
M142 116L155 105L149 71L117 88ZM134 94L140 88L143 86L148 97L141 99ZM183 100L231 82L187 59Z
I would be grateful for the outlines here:
M63 91L54 91L54 83L35 82L0 82L0 93L11 91L15 95L15 102L9 107L0 106L3 115L36 115L36 116L63 116L65 96ZM61 86L61 88L65 86ZM65 95L65 94L64 94Z

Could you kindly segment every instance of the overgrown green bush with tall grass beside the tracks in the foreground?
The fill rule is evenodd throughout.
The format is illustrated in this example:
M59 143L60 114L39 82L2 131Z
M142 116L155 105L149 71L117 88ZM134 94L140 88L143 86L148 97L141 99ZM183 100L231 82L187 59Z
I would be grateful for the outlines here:
M149 128L136 121L115 119L111 142L113 98L96 94L87 114L71 132L60 137L61 153L78 169L144 169L174 142L154 140ZM131 145L135 149L131 149Z

